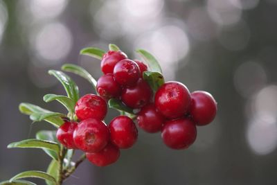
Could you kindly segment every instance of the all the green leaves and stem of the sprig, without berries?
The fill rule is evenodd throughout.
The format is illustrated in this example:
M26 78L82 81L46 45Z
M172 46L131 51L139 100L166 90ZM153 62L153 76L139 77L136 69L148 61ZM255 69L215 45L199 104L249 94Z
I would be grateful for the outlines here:
M109 50L118 51L120 49L115 44L109 44ZM80 51L81 55L89 55L99 60L102 60L102 57L105 53L106 51L93 47L85 48ZM161 67L159 66L159 63L150 53L148 53L148 51L139 49L137 50L137 53L141 55L141 57L145 60L145 62L148 64L148 67L150 68L149 71L145 71L143 73L144 80L149 83L153 91L157 91L157 89L164 83L164 78L161 74ZM77 121L77 118L74 114L74 108L75 103L80 97L79 89L75 82L63 71L75 73L78 76L82 76L91 83L94 89L96 89L97 81L91 76L88 71L75 64L64 64L62 66L62 71L50 70L48 71L48 73L51 76L55 76L55 78L57 78L57 80L61 82L66 91L66 96L57 94L46 94L43 99L46 103L57 100L59 103L64 105L64 107L68 111L68 114L52 112L48 109L44 109L30 103L21 103L19 105L19 111L23 114L29 115L30 120L32 120L33 122L46 121L48 123L51 123L56 128L60 127L60 125L62 125L65 120ZM120 114L125 114L130 117L134 116L134 110L125 106L123 103L121 103L120 100L112 98L109 100L108 105L110 108L117 109ZM47 155L52 158L52 161L49 164L46 172L39 170L28 170L15 175L6 182L1 182L0 185L33 185L33 182L23 180L24 178L29 177L44 179L46 181L46 184L48 185L62 184L62 181L66 179L66 177L69 177L69 175L74 172L75 168L77 168L78 165L85 159L85 156L81 156L78 161L71 161L74 150L68 150L60 145L60 143L58 143L56 139L55 134L56 130L42 130L37 132L36 139L26 139L15 143L10 143L8 145L8 148L41 148L42 150L44 150L44 152L46 152Z

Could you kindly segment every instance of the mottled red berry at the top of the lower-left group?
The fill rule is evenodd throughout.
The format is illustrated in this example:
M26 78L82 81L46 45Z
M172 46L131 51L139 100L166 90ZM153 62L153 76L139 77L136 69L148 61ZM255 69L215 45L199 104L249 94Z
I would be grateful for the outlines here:
M95 94L84 95L76 103L75 114L81 121L87 118L102 120L107 114L107 103Z

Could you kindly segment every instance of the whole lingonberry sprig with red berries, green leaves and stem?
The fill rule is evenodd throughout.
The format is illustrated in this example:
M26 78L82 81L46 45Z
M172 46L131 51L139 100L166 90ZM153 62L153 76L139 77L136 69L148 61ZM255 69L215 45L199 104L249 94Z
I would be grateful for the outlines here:
M62 71L75 73L89 80L96 94L79 97L78 86L62 71L48 73L59 80L67 96L46 94L46 103L57 100L67 114L51 112L30 103L21 103L19 110L32 121L46 121L57 130L37 132L36 139L10 143L8 148L41 148L52 157L46 172L28 170L0 184L34 184L24 178L44 179L48 185L60 185L74 173L84 159L96 166L108 166L120 157L120 150L132 148L138 138L136 123L149 133L161 132L163 143L172 149L188 148L197 137L197 127L215 118L217 103L206 91L190 94L181 82L165 82L157 60L139 49L146 63L130 60L115 44L109 51L86 48L80 51L101 60L104 73L96 81L85 69L64 64ZM120 112L106 125L108 107ZM84 153L73 161L75 150Z

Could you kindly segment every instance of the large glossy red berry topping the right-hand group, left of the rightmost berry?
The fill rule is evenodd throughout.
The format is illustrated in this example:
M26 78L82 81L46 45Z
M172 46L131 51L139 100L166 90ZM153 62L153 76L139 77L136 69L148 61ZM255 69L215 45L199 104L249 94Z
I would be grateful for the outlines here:
M166 118L184 116L190 106L190 91L180 82L166 82L156 93L155 106Z

